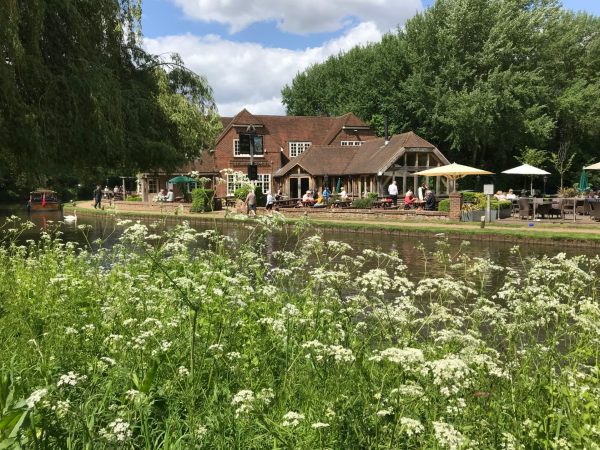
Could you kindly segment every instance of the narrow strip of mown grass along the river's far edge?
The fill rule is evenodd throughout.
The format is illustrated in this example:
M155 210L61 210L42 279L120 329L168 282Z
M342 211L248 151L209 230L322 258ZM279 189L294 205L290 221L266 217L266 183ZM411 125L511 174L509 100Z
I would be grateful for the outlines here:
M222 212L219 213L204 213L204 214L177 214L165 213L160 211L122 211L119 210L117 213L114 210L94 210L94 209L81 209L78 207L65 206L65 211L78 209L85 214L93 215L115 215L119 217L178 217L191 220L201 221L239 221L239 218L235 216L226 216ZM305 220L302 217L286 217L286 221L289 223L298 223L299 221ZM335 218L314 218L311 217L310 222L316 226L323 228L339 228L348 229L354 231L360 230L379 230L385 232L399 232L399 233L423 233L423 234L445 234L451 238L469 238L469 239L482 239L482 240L504 240L506 238L515 239L516 242L540 240L546 243L559 243L561 245L584 245L587 243L593 243L594 245L600 245L600 224L594 225L576 225L570 226L567 224L542 224L539 222L533 222L534 226L530 227L528 222L523 224L503 224L494 223L493 225L486 225L485 228L480 228L479 223L469 222L444 222L440 223L437 221L410 221L403 219L397 222L388 221L376 221L376 219L335 219Z

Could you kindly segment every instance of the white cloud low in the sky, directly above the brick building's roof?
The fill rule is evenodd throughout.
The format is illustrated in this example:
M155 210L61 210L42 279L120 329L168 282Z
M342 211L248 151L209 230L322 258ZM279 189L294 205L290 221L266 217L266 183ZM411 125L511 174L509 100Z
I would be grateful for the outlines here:
M191 34L145 39L144 44L153 54L179 53L187 67L207 77L219 113L231 116L244 107L255 114L283 114L281 89L298 72L331 55L380 39L377 26L365 22L320 47L305 50L268 48L215 35Z

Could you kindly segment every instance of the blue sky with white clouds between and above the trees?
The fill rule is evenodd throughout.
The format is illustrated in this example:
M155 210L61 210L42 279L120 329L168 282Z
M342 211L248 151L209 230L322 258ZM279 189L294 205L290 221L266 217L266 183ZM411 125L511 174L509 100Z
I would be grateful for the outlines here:
M377 42L434 0L144 0L145 48L179 53L204 75L222 116L285 114L281 89L298 72ZM563 0L600 15L600 0Z

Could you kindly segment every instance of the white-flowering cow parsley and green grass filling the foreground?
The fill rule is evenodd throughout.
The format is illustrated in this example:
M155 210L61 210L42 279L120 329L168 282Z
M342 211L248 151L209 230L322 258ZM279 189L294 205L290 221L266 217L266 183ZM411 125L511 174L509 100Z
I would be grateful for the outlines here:
M599 258L505 268L395 254L277 215L233 243L185 224L111 250L0 250L0 442L25 448L592 448ZM85 227L82 226L82 232ZM204 249L190 244L204 242ZM92 244L96 248L98 244ZM518 252L518 249L515 249ZM418 252L415 253L415 256ZM272 265L272 262L274 265ZM489 292L490 277L500 289Z

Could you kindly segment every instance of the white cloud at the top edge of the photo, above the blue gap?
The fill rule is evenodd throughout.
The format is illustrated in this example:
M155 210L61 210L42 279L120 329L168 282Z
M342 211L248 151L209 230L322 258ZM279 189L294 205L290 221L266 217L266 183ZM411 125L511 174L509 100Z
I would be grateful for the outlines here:
M265 21L276 21L282 31L295 34L332 32L353 17L388 31L423 9L421 0L171 1L188 17L228 25L231 33Z

